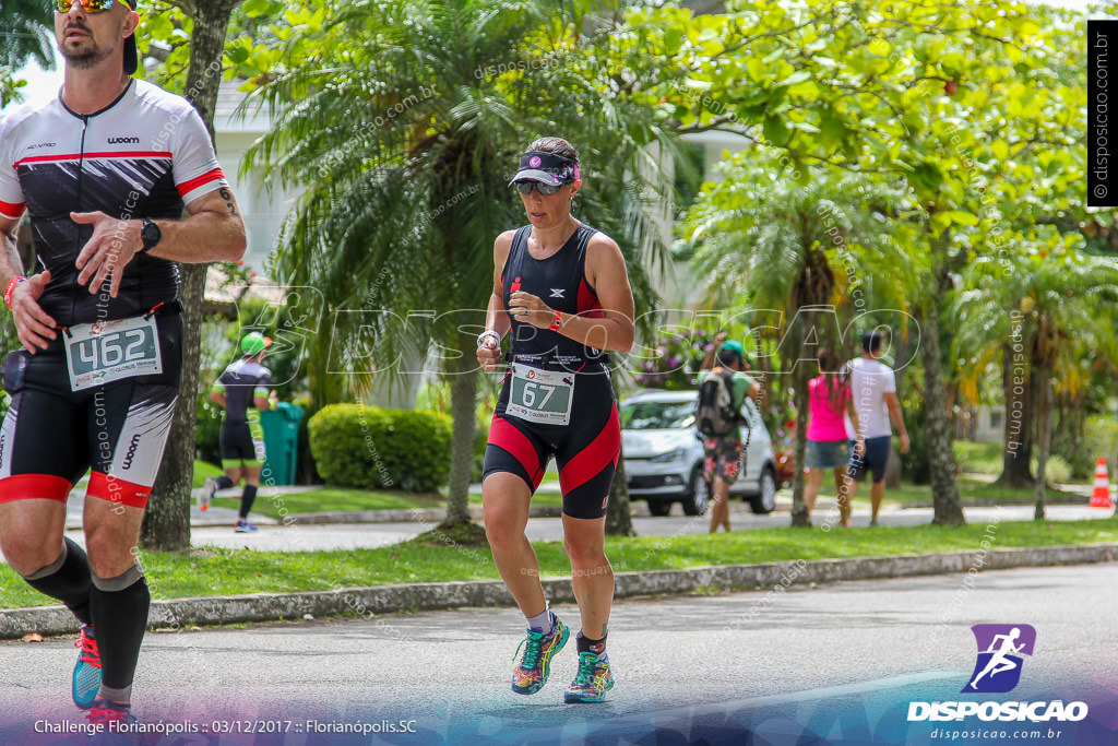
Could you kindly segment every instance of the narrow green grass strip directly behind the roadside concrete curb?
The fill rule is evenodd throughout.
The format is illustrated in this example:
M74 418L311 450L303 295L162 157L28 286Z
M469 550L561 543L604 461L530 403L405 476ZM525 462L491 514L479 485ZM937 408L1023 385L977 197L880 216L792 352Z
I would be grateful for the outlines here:
M854 528L824 532L773 528L729 533L607 538L614 568L672 569L698 565L767 563L930 551L977 550L987 527L939 526ZM995 548L1118 541L1118 521L1018 521L996 527ZM534 545L544 577L562 576L570 565L562 544ZM189 555L141 553L152 596L231 595L329 591L338 587L495 579L489 547L446 544L424 535L410 541L351 551L264 553L195 549ZM0 565L0 608L54 604Z

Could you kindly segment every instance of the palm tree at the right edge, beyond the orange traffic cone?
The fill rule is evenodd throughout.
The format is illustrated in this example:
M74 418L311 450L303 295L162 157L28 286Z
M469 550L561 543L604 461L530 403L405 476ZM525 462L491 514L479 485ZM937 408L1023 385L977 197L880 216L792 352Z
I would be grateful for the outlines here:
M1118 262L1083 254L1080 236L1045 232L1040 238L1022 236L1017 244L1012 273L1003 272L1004 258L988 255L968 268L967 290L953 309L959 320L956 357L973 378L1008 343L1032 369L1033 517L1043 520L1053 388L1074 394L1086 356L1118 359L1110 321L1118 309Z

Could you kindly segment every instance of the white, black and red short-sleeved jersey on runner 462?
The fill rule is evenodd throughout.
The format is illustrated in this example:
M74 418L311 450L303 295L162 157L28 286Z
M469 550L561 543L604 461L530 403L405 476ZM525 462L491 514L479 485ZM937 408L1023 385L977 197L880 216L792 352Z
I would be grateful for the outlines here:
M39 305L63 327L146 313L179 293L174 262L146 254L129 262L115 299L78 285L74 262L93 226L70 213L177 220L221 187L198 112L143 81L95 114L76 114L58 96L0 121L0 216L30 216L39 267L50 271Z

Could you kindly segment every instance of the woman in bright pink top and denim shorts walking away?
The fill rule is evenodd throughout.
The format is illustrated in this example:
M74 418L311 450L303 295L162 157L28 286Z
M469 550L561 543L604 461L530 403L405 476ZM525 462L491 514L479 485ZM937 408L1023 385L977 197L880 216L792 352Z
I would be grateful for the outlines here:
M839 358L830 352L818 357L819 376L807 381L807 402L811 421L807 424L807 451L804 465L807 468L807 484L804 488L804 504L811 512L815 498L823 484L823 470L831 469L835 476L835 492L839 495L839 516L842 526L850 526L850 504L846 500L846 466L850 463L850 441L843 412L850 415L854 432L861 434L858 413L850 395L850 383L837 372ZM861 435L855 448L863 453L865 443Z

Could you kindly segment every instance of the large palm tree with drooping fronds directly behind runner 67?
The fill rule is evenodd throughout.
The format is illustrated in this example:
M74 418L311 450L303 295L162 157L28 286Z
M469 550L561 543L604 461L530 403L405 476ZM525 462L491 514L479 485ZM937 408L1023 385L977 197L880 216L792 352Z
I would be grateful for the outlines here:
M506 187L517 154L550 134L579 148L587 187L576 216L618 240L638 309L647 309L642 261L665 251L647 187L653 200L667 193L656 147L671 153L673 141L650 108L594 69L595 38L606 36L575 45L597 19L570 3L414 1L328 12L329 30L294 35L296 62L256 92L275 120L246 168L306 187L274 268L283 282L320 289L338 311L324 314L309 351L315 406L342 395L328 366L399 383L396 361L430 353L429 368L451 383L455 423L447 522L466 522L474 338L492 289L493 240L524 221ZM314 54L299 60L309 44ZM340 312L349 309L363 311Z

